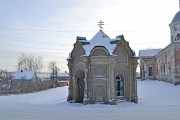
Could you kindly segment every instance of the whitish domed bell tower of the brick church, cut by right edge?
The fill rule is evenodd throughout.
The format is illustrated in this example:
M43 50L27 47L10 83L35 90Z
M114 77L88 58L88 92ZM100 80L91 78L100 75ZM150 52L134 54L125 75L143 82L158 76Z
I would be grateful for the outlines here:
M171 32L171 43L180 41L180 0L179 11L174 16L172 22L169 24Z

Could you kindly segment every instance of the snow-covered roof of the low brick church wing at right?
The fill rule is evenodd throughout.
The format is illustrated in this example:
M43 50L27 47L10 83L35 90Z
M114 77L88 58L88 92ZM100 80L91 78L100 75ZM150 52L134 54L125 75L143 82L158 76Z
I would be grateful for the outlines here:
M139 57L154 57L157 55L162 49L147 49L147 50L139 50Z

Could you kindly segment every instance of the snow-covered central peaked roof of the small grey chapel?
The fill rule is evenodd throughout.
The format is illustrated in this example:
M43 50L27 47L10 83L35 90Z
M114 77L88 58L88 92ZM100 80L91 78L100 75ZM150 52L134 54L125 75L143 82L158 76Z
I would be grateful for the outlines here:
M113 50L116 47L116 44L110 44L112 39L110 39L102 30L100 30L96 35L90 40L90 44L83 45L83 48L86 52L86 55L89 56L91 50L96 46L105 47L110 54L112 54Z

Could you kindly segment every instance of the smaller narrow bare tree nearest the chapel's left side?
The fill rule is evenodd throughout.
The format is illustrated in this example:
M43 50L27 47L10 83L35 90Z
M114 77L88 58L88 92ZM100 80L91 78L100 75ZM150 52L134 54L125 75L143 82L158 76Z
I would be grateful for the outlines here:
M52 78L54 79L55 74L57 77L57 71L59 70L59 68L57 67L57 63L55 61L50 62L48 68L51 71Z

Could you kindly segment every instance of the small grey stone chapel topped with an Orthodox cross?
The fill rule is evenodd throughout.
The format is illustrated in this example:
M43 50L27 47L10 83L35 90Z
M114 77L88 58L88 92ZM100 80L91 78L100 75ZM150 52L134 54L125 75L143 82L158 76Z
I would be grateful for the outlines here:
M100 28L103 22L100 21ZM115 105L138 102L137 57L123 35L109 38L100 29L91 40L77 37L69 55L67 101Z

